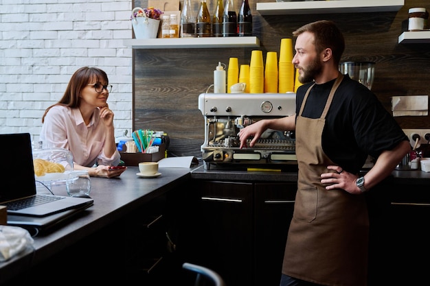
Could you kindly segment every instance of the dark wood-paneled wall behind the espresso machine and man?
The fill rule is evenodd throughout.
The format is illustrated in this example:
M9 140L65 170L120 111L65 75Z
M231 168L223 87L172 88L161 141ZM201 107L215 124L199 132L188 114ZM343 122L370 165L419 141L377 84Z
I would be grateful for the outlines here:
M408 9L429 10L428 1L406 0L398 12L280 16L261 16L256 2L249 4L253 34L261 40L258 48L133 50L133 130L163 130L170 136L170 155L200 157L204 118L198 97L213 84L218 61L228 64L230 57L237 57L239 64L249 64L253 49L262 50L265 58L267 51L279 51L280 40L292 38L297 27L321 19L337 22L344 33L342 60L376 62L372 91L387 110L391 111L394 95L429 94L430 44L398 44L407 27ZM146 7L146 3L135 1L135 6ZM197 6L199 1L192 3ZM208 6L212 14L214 1L208 1ZM396 117L396 121L402 128L430 128L429 116Z

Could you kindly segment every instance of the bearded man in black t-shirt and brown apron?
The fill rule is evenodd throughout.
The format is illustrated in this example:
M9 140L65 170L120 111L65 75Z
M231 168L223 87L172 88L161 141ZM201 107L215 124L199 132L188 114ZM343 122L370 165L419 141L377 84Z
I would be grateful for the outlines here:
M294 215L280 285L367 285L369 218L365 191L389 176L411 150L407 136L374 93L339 73L345 42L332 21L293 36L299 72L296 113L239 132L253 147L267 128L295 130L299 167ZM367 156L374 167L359 176Z

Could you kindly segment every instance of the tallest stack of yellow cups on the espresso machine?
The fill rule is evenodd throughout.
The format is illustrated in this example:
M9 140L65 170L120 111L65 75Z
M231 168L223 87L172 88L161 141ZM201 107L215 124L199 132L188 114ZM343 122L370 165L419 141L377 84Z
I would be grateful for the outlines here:
M294 91L294 65L293 65L293 40L281 39L279 54L279 93Z

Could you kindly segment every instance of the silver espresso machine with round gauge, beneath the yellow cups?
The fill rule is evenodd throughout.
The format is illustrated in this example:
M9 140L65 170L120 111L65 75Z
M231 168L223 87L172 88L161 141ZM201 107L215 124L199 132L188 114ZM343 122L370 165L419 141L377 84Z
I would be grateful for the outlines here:
M253 147L247 139L248 147L242 149L238 136L240 129L261 119L295 114L295 93L201 93L199 110L205 117L205 169L297 165L294 132L266 130Z

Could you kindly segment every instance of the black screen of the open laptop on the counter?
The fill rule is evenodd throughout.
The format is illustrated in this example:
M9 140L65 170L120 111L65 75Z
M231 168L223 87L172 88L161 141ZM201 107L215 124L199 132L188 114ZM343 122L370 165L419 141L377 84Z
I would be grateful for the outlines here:
M0 134L0 202L36 194L32 142L29 133Z

